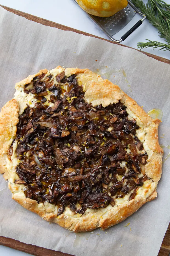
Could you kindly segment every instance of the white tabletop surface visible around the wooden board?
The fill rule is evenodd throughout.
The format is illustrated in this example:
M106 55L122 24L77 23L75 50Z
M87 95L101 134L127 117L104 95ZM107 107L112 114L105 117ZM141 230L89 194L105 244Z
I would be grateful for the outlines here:
M170 4L170 0L165 1ZM0 4L108 39L100 28L90 20L86 13L81 10L73 0L0 0ZM139 19L140 16L136 14L126 28L115 35L115 38L119 39ZM123 42L123 44L137 48L137 42L145 42L146 38L164 42L164 40L158 36L156 29L148 22L148 20L145 20L144 23ZM169 51L158 51L157 49L153 50L151 48L146 48L144 51L170 59ZM0 246L0 256L1 255L26 256L30 254Z

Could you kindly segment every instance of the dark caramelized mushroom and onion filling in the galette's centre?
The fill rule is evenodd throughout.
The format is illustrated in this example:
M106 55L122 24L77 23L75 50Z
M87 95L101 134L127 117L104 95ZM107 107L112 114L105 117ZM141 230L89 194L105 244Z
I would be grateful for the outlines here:
M15 138L15 184L24 184L26 197L38 203L58 205L58 215L66 206L83 214L125 195L132 200L148 179L148 156L126 106L93 107L75 77L42 74L25 86L37 101L19 116ZM8 157L12 152L11 145Z

